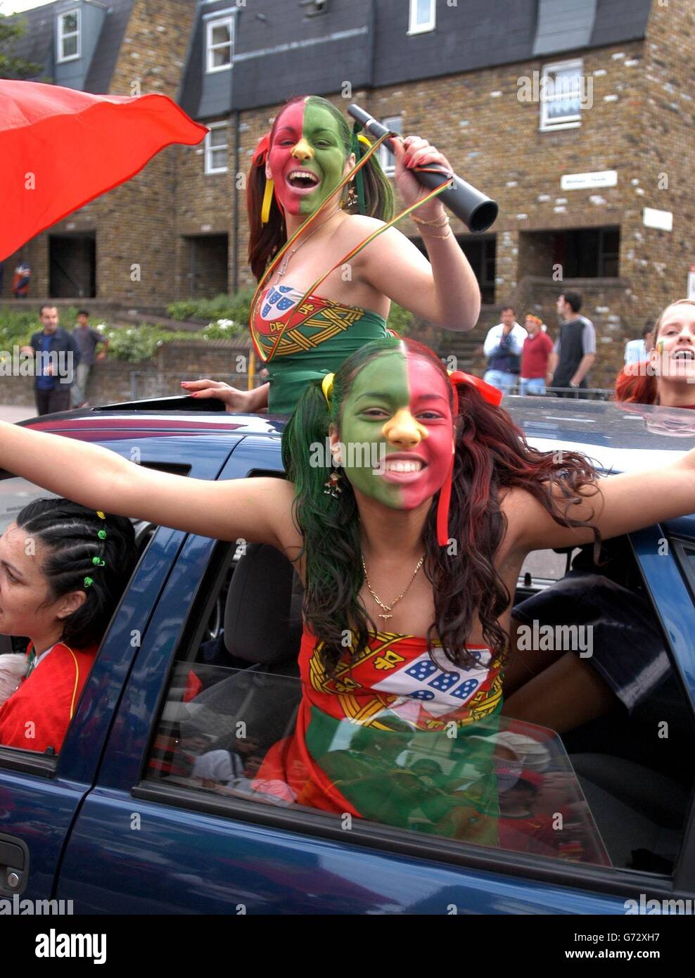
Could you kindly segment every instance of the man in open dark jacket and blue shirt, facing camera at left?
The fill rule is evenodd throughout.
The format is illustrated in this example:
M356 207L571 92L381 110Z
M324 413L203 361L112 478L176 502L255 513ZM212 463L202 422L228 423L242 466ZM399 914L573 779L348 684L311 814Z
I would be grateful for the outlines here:
M58 325L56 306L42 305L39 316L43 329L32 334L30 345L22 346L21 352L30 353L36 365L36 414L52 415L69 411L70 387L79 363L79 350L71 334Z

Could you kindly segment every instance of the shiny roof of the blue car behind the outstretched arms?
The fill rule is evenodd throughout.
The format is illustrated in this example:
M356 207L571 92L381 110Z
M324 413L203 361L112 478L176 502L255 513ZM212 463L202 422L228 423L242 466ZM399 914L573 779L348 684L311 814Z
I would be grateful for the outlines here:
M659 467L695 448L695 411L613 401L506 396L502 407L543 451L579 451L604 470ZM215 399L150 398L65 411L28 424L51 431L145 431L151 435L224 432L277 436L286 418L237 415Z

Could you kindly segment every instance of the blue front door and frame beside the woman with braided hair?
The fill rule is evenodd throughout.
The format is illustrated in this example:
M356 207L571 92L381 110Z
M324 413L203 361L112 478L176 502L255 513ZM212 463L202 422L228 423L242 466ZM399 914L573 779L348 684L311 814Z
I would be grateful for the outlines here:
M195 439L193 449L170 438L89 439L152 467L187 466L196 478L215 478L238 436ZM0 895L53 896L57 870L80 802L94 783L109 727L152 609L186 534L159 527L110 623L58 757L0 747Z

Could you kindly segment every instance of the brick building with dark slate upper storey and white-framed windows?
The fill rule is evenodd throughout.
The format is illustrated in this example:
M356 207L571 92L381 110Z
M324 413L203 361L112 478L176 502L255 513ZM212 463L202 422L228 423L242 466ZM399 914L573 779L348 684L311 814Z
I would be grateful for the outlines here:
M204 145L165 150L27 244L34 295L77 284L164 305L249 284L241 175L284 100L305 92L426 136L499 201L486 235L453 220L483 291L476 341L508 300L554 332L556 295L579 289L599 338L593 382L608 382L624 340L686 293L688 0L57 0L24 16L18 53L56 83L139 83L210 127ZM419 242L413 223L401 229Z

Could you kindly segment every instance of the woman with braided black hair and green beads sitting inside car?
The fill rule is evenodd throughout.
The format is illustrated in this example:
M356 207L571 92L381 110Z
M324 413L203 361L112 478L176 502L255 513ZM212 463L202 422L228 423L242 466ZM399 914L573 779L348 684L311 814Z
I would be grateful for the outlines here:
M9 460L6 460L9 461ZM35 499L0 537L0 744L60 751L97 649L135 563L125 516Z

